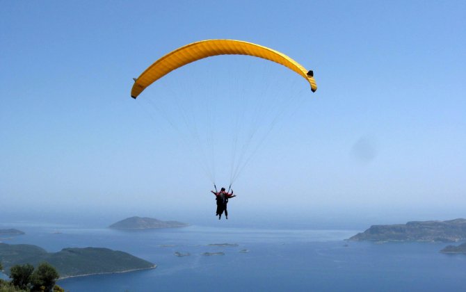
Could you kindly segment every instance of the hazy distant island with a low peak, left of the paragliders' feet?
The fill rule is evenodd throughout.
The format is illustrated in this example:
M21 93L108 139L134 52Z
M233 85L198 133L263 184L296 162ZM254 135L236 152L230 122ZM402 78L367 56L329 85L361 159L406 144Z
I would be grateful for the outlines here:
M162 221L154 218L147 217L130 217L124 220L118 221L109 226L112 229L126 229L126 230L138 230L138 229L156 229L156 228L173 228L173 227L186 227L189 226L186 223L178 221Z

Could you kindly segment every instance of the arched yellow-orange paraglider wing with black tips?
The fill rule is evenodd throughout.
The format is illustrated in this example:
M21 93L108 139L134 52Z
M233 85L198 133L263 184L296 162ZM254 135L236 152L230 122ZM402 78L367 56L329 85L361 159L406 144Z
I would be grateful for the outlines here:
M314 73L305 70L302 65L279 51L241 40L202 40L175 49L156 60L135 80L131 89L131 97L136 99L147 86L179 67L202 58L218 55L248 55L271 60L303 76L310 83L312 92L317 90Z

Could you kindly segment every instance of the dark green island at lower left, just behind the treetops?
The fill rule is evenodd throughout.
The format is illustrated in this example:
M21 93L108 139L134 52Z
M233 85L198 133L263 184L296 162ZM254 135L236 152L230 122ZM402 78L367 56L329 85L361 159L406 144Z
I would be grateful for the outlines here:
M37 245L0 243L0 259L7 273L18 264L38 266L46 261L56 268L61 279L156 268L154 263L108 248L63 248L60 252L47 252Z

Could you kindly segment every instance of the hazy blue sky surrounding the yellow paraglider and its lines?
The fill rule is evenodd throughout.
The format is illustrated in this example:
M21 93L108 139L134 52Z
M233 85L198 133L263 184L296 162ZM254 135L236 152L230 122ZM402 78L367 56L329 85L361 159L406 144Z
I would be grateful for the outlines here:
M212 213L209 179L129 92L213 38L283 51L319 86L231 208L466 208L466 2L281 2L3 1L0 208Z

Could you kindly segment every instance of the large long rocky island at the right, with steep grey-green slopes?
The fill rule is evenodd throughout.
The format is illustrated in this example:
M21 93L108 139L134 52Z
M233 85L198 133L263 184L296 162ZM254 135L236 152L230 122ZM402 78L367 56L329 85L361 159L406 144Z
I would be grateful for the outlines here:
M349 241L429 241L456 242L466 240L466 219L447 221L412 221L400 225L373 225Z

